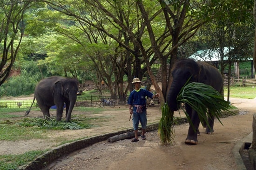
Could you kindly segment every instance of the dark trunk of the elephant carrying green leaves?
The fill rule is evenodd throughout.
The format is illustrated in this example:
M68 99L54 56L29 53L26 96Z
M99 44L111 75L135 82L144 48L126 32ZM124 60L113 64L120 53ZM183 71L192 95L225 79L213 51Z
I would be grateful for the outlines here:
M172 111L177 111L179 109L176 99L181 88L182 86L179 85L177 81L172 82L171 88L167 96L167 104Z

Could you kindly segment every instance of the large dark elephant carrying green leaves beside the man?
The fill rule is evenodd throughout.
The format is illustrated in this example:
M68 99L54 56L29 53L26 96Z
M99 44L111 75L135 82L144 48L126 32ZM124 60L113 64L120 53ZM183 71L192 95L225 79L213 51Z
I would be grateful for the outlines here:
M177 104L176 98L181 88L187 80L190 78L190 82L200 82L206 85L211 85L218 92L222 92L223 89L223 78L220 72L212 65L205 62L197 61L193 59L181 59L178 60L172 71L172 84L168 92L167 103L171 110L177 111L179 104ZM191 119L193 124L189 124L189 131L185 140L186 144L197 144L197 136L200 134L198 127L200 119L195 110L189 105L185 104L186 112ZM213 134L214 116L208 115L208 122L210 127L206 127L207 134ZM194 128L196 131L194 131ZM205 125L205 124L204 124Z

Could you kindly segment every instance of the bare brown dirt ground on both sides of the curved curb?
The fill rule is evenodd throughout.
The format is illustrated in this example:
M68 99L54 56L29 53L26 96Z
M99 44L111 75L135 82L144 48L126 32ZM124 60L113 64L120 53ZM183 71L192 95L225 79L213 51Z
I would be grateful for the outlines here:
M157 131L146 133L146 140L136 143L129 139L108 143L107 141L94 144L61 157L50 164L45 170L235 170L236 164L232 155L232 148L236 142L252 131L252 114L255 113L256 100L232 98L231 103L240 109L240 115L222 118L222 126L218 120L215 122L215 134L202 133L198 137L197 145L184 144L188 124L175 127L175 144L163 146L160 144ZM24 113L22 113L24 114ZM40 112L30 112L30 116L40 116ZM51 113L51 114L54 114ZM88 114L74 112L73 114ZM129 122L128 107L115 107L115 110L106 108L99 116L108 116L108 121L96 122L99 127L88 130L59 131L49 134L47 140L28 140L1 142L0 154L22 153L28 150L52 148L57 144L55 139L66 137L68 139L81 138L104 134L132 128ZM178 113L175 113L178 116ZM95 116L95 115L94 115ZM148 123L159 122L161 111L158 107L148 108Z

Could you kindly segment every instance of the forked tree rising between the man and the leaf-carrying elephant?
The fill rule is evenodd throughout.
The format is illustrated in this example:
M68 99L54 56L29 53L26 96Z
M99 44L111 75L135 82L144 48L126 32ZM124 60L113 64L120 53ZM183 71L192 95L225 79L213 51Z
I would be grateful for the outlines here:
M144 19L147 31L150 37L152 49L160 60L162 65L162 94L163 98L160 98L163 102L167 98L168 89L171 85L171 68L177 60L178 47L185 43L188 39L193 37L196 31L206 23L209 17L202 17L202 9L205 7L201 1L190 0L158 0L162 7L162 13L164 15L165 32L162 37L155 36L155 32L152 29L152 22L148 18L148 13L145 9L144 2L141 0L136 1L140 7L142 18ZM202 7L201 7L202 6ZM208 10L208 8L206 8ZM205 13L209 13L204 10ZM165 43L162 43L165 42ZM143 56L147 61L148 57ZM170 60L169 69L167 68L168 59ZM146 62L147 63L147 62ZM169 72L167 72L169 71ZM159 92L159 87L156 84L154 76L150 74L150 68L148 67L149 75L152 79L153 85Z

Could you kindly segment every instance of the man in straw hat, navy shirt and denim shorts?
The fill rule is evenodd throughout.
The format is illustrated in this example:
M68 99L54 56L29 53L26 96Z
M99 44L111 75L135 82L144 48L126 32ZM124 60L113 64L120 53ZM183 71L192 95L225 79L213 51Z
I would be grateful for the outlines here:
M141 89L141 81L139 78L134 78L132 84L135 86L128 98L130 114L133 114L133 127L135 138L132 142L138 142L138 128L141 122L142 132L141 139L145 140L145 132L147 126L147 111L146 111L146 96L149 98L159 97L159 94L154 95L146 89Z

